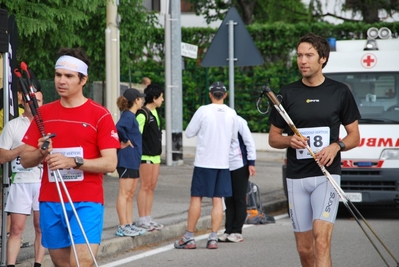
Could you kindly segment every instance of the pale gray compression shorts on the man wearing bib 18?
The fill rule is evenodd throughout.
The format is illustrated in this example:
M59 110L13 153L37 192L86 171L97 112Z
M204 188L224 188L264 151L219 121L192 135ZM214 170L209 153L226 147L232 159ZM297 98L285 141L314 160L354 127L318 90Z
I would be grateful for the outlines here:
M341 176L331 176L340 185ZM287 178L287 190L294 232L312 230L314 220L335 223L339 195L325 176Z

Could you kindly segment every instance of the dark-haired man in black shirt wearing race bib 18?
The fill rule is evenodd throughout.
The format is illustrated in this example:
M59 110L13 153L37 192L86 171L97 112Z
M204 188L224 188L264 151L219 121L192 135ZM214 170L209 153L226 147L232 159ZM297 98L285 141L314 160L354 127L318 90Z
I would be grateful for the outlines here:
M289 214L302 266L331 266L331 235L337 215L339 196L306 149L316 153L339 184L341 151L355 148L360 141L360 113L345 84L322 73L330 46L325 38L307 34L297 46L297 64L302 79L283 87L280 101L305 137L283 135L287 123L273 109L270 114L269 144L287 148L287 189ZM340 125L347 135L339 140Z

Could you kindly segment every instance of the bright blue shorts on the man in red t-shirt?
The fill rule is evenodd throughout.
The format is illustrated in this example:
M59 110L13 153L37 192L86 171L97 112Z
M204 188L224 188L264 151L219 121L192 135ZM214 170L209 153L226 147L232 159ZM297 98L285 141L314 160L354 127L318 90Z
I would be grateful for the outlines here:
M94 202L76 202L73 205L89 243L100 244L104 224L104 206L101 203ZM65 203L65 209L71 225L74 243L86 244L71 204ZM43 247L59 249L72 245L61 203L40 202L40 228L42 230Z

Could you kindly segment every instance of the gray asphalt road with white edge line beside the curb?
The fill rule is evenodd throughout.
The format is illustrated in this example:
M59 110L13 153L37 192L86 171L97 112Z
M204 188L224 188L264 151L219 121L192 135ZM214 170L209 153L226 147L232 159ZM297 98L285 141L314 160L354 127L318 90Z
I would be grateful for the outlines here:
M393 256L399 259L399 210L361 210L361 213L367 217L367 222ZM217 250L206 249L208 234L199 233L195 250L174 249L174 240L170 240L156 246L140 247L114 257L100 259L99 266L300 266L291 223L287 216L278 219L275 224L244 228L243 233L244 242L219 243ZM397 266L373 234L369 231L368 234L388 265L381 259L356 221L349 216L345 208L341 209L333 232L333 266Z

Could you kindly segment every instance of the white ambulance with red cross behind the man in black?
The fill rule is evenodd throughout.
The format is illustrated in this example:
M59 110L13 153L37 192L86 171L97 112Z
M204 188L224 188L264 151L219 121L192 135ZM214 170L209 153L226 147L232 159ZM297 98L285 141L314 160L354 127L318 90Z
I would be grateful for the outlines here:
M388 28L367 34L332 40L323 69L349 86L362 116L359 146L341 154L341 187L358 204L399 206L399 39Z

